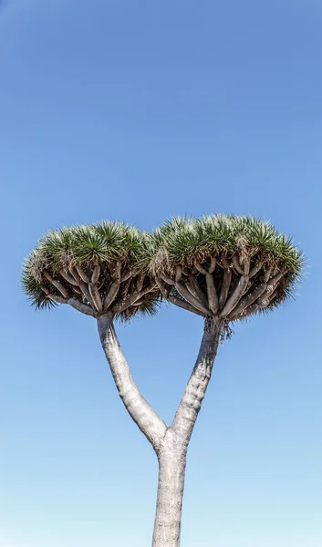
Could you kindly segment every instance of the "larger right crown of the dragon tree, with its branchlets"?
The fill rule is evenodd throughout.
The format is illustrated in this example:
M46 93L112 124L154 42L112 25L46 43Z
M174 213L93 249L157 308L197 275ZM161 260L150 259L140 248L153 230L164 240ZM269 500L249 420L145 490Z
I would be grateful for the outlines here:
M225 322L284 302L303 266L290 238L246 216L175 218L151 234L146 251L164 297Z

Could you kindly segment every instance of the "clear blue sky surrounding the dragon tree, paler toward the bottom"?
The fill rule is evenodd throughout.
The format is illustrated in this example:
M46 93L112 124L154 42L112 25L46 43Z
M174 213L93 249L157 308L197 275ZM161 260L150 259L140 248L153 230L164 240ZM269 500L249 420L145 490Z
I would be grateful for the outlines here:
M157 461L94 320L36 313L20 264L50 228L254 214L306 253L295 302L237 325L189 451L182 547L320 547L322 4L6 0L0 9L0 547L151 544ZM202 322L119 328L171 420Z

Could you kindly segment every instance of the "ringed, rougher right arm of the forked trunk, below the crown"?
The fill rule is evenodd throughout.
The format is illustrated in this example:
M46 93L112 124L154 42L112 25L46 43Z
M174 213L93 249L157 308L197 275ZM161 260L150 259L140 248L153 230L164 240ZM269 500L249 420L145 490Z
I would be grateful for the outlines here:
M205 330L196 363L171 428L187 446L192 429L202 407L203 397L212 376L213 361L217 354L222 325L213 324L213 329Z

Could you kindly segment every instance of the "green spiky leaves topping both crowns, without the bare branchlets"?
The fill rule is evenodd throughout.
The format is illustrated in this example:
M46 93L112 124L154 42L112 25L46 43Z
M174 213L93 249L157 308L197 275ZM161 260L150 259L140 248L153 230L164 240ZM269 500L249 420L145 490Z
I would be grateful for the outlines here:
M210 215L203 218L174 218L156 231L141 232L123 222L64 227L42 237L23 265L22 284L36 308L52 307L56 302L44 292L43 272L52 275L62 269L66 272L76 265L85 268L110 265L119 261L130 268L133 276L142 273L153 277L162 273L171 275L175 268L191 269L198 261L209 263L238 256L243 264L249 257L251 265L260 261L266 267L285 273L275 300L265 308L273 309L294 293L303 270L303 254L292 240L275 230L270 222L254 217ZM214 274L215 276L216 274ZM55 294L55 291L54 291ZM133 315L153 314L161 303L157 290L147 294L135 308L119 314L128 320Z

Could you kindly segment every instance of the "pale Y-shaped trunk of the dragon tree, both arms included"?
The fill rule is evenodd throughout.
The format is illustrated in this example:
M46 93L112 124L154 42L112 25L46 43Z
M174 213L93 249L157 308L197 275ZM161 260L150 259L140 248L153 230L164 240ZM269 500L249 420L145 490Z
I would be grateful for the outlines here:
M157 510L152 547L179 547L186 453L212 375L222 324L206 320L203 340L182 400L170 427L151 408L134 383L115 334L112 318L100 317L99 335L125 407L150 440L159 459Z

